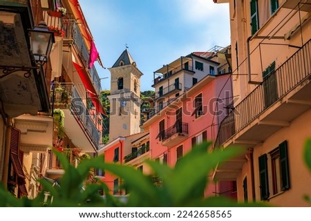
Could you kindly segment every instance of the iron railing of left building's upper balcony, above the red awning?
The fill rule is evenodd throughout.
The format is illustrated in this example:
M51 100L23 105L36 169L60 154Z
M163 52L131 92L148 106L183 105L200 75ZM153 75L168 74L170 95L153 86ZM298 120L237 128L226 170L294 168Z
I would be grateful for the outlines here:
M75 48L79 52L79 55L81 55L84 66L87 67L90 52L86 47L82 33L77 26L77 22L74 19L62 19L62 24L64 28L64 38L73 39ZM102 91L102 86L100 84L100 77L98 76L95 66L88 69L88 75L93 82L97 93L100 93L100 91Z

